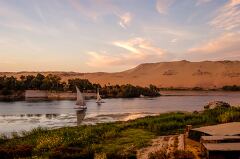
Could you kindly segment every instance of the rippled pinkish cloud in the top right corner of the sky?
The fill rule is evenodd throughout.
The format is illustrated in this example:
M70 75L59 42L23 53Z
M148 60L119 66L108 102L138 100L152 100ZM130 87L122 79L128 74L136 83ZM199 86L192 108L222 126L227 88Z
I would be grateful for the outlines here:
M230 0L217 13L210 25L224 30L240 27L240 0Z

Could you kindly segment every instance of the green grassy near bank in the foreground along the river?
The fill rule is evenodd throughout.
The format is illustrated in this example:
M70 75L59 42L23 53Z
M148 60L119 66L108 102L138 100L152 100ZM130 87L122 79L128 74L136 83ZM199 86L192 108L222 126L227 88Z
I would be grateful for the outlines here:
M24 132L20 137L0 139L4 158L136 158L136 151L159 135L178 134L186 125L199 127L240 121L239 107L216 107L203 112L166 113L128 122L83 125L55 130L42 128ZM178 156L191 156L176 152ZM154 154L152 155L154 157Z

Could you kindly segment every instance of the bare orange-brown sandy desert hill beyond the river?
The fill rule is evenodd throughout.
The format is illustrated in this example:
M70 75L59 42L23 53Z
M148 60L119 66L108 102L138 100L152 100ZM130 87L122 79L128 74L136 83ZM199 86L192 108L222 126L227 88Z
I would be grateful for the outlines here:
M62 77L87 78L91 82L104 84L127 84L178 88L220 88L224 85L240 85L240 61L203 61L203 62L159 62L141 64L133 69L118 73L74 73L45 72ZM0 75L36 74L36 72L0 73Z

